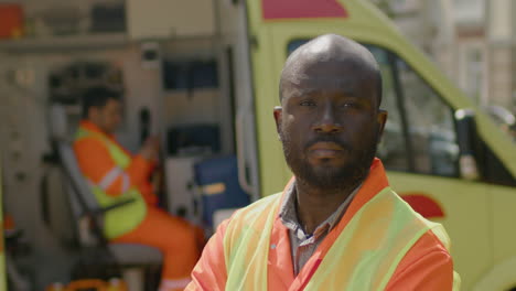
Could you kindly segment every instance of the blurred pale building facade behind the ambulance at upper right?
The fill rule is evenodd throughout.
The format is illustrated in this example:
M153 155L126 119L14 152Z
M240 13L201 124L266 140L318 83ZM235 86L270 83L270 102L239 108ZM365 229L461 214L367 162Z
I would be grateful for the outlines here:
M376 0L481 107L516 112L516 2Z

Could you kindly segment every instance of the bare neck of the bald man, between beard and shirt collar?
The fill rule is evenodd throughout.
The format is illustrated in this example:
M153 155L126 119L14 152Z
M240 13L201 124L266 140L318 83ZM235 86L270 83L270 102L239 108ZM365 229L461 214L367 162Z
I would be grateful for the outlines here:
M320 190L302 181L295 182L295 209L298 219L307 234L312 234L319 225L327 219L353 191L361 185L362 181L348 186L334 190Z

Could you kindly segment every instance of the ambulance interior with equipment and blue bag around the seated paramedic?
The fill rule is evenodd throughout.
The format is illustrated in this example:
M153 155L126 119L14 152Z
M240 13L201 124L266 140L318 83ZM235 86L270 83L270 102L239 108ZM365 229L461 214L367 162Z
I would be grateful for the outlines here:
M103 259L123 252L85 246L92 222L74 212L76 186L63 166L80 93L97 85L122 93L117 140L137 152L146 137L160 138L160 206L209 235L230 214L216 211L258 195L241 1L26 0L0 4L0 15L6 7L21 11L24 28L0 40L9 290L66 284L80 278L80 266L121 276L130 290L155 290L155 251L126 251L147 261L116 273ZM66 142L68 152L60 148Z

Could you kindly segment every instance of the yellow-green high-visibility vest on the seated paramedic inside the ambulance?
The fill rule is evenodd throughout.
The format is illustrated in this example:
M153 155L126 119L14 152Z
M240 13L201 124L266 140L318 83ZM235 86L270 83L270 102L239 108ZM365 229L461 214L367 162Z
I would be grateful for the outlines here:
M131 157L127 154L117 143L104 137L100 133L89 131L83 127L79 128L75 137L76 141L92 138L103 142L109 151L116 166L125 171L131 163ZM147 205L140 191L130 185L128 191L118 196L108 195L98 184L86 175L100 207L108 207L114 204L133 198L135 201L123 206L116 207L105 213L104 234L108 239L116 238L135 229L146 217Z

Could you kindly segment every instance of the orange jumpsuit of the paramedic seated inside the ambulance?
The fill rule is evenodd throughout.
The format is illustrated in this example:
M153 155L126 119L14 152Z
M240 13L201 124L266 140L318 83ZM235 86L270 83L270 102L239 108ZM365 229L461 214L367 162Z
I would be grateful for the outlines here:
M82 121L80 127L114 140L111 136L103 132L90 121ZM98 139L86 138L78 140L74 143L74 151L82 172L90 177L93 183L100 183L109 171L116 166L106 144ZM164 257L160 291L182 290L190 281L190 272L198 259L201 252L198 242L202 240L202 235L200 235L197 228L185 220L171 216L155 207L157 197L153 194L152 185L149 183L152 168L152 162L140 155L135 155L130 165L126 169L125 174L129 176L131 186L137 186L146 200L147 215L140 225L131 231L112 239L112 242L135 242L160 249ZM122 175L120 175L105 187L107 195L121 195L122 180Z

